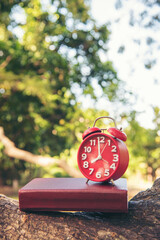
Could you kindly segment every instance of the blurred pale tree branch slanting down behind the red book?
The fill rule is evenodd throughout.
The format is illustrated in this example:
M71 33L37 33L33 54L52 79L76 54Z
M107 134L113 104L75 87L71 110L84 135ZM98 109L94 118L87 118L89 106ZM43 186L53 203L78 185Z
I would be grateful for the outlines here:
M42 167L57 164L59 167L63 168L70 176L82 177L81 173L77 169L69 166L67 162L62 159L35 155L28 151L17 148L14 142L5 136L3 127L0 127L0 141L5 147L5 154L11 158L18 158L26 162L38 164Z

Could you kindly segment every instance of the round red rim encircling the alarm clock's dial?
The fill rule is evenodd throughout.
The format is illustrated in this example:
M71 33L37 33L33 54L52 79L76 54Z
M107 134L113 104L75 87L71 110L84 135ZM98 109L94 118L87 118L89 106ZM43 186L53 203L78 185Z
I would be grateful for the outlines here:
M105 137L109 137L111 138L111 140L114 142L114 144L117 146L117 149L118 149L118 162L117 162L117 166L116 166L116 169L113 170L113 173L109 176L109 177L106 177L104 178L103 180L101 179L97 179L95 180L95 178L90 178L88 175L86 175L83 171L81 171L81 167L80 167L80 157L79 157L79 153L80 153L80 149L82 147L82 145L84 144L84 142L86 142L89 138L92 138L92 137L95 137L96 135L100 135L100 136L105 136ZM106 181L109 181L110 179L112 179L112 176L115 174L115 172L117 171L118 167L119 167L119 164L120 164L120 150L119 150L119 146L118 146L118 143L116 142L116 138L113 137L112 135L109 135L109 134L106 134L106 133L102 133L102 132L95 132L93 134L90 134L89 136L87 136L83 141L82 143L80 144L79 146L79 149L78 149L78 153L77 153L77 162L78 162L78 167L79 167L79 170L80 172L83 174L84 177L86 177L87 179L91 180L91 181L94 181L94 182L106 182Z

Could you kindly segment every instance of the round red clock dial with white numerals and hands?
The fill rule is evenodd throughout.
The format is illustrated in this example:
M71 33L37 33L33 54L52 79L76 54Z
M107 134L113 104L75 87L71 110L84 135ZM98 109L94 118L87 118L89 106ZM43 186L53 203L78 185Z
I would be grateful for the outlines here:
M78 166L82 174L96 182L112 178L119 165L116 140L105 133L93 133L80 145Z

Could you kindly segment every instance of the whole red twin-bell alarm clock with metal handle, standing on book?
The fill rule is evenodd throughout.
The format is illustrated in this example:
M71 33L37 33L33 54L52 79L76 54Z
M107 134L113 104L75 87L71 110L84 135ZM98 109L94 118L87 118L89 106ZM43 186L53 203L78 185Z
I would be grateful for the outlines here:
M95 127L101 118L113 120L115 127L100 129ZM102 131L107 130L109 134ZM93 127L87 129L83 135L78 154L78 166L82 174L95 182L104 182L120 178L127 170L129 154L124 141L127 136L118 129L111 117L99 117Z

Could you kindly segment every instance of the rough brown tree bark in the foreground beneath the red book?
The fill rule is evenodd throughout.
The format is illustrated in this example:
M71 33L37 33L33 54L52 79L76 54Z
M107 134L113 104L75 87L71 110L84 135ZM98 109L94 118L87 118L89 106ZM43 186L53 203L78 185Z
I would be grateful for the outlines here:
M160 239L160 178L129 201L128 213L25 213L0 195L0 239Z

